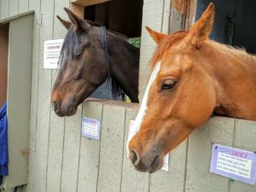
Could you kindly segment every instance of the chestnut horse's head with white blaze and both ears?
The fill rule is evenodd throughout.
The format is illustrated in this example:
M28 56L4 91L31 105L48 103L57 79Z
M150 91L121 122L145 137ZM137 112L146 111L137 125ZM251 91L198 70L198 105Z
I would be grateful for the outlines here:
M153 70L135 120L137 133L127 143L138 171L159 170L165 154L212 114L216 92L200 51L212 31L213 19L211 3L189 32L166 35L148 28L157 43Z

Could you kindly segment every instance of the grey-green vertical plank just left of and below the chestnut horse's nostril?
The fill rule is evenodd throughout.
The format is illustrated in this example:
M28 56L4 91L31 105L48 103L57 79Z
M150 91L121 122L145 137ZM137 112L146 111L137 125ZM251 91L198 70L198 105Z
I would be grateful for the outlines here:
M128 138L129 123L131 119L135 119L137 115L136 108L127 108L125 117L125 139L124 139L124 157L123 157L123 170L122 170L122 192L148 192L149 174L137 172L132 166L131 160L126 154L126 143Z

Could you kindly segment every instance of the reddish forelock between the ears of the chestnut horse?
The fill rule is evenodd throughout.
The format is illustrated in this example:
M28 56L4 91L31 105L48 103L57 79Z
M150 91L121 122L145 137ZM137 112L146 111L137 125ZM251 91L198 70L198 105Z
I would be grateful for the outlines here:
M172 47L173 44L185 38L187 34L188 32L185 31L174 32L172 35L160 42L154 50L152 59L149 61L151 69L154 69L155 65L162 59L162 56Z

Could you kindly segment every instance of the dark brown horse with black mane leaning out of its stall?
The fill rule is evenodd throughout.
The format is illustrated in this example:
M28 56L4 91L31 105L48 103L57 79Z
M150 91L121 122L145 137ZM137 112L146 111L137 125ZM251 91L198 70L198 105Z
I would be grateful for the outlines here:
M55 113L73 115L106 79L112 83L113 95L119 96L123 90L131 102L138 102L139 49L120 34L64 9L71 22L57 16L68 31L51 96Z

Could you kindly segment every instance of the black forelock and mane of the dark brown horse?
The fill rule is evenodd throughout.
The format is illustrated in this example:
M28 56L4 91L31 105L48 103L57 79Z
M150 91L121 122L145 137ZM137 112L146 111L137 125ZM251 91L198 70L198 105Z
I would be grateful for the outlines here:
M107 38L107 29L105 26L103 26L101 23L91 21L91 20L86 20L91 26L96 26L102 28L102 44L103 44L103 51L106 60L108 60L109 64L109 59L108 59L108 38ZM119 38L120 40L125 41L125 36L121 36L117 32L109 32L111 33L114 37ZM63 58L65 56L71 56L71 59L77 59L77 51L79 50L79 44L80 42L80 37L82 35L81 30L73 31L73 27L70 27L67 31L67 35L64 38L64 42L61 47L61 53L60 53L60 58L58 61L58 66L60 70L64 67L61 65ZM126 42L126 41L125 41ZM108 67L109 68L109 67ZM113 77L110 76L110 73L108 72L108 84L111 84L111 91L112 91L112 96L113 98L117 99L119 97L122 98L122 100L125 99L125 92L124 90L121 89L121 86L119 82L114 79Z

